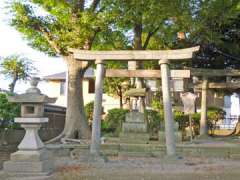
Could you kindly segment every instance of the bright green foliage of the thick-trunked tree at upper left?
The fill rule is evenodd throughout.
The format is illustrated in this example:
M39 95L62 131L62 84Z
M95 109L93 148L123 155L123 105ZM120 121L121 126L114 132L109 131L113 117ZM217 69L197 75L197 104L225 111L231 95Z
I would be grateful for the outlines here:
M101 49L109 45L111 33L116 40L118 33L108 26L100 5L101 1L17 0L10 7L11 25L31 47L49 55L68 55L69 47ZM111 41L113 46L119 45Z

